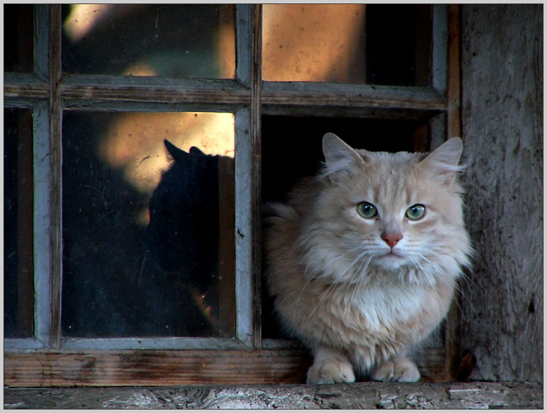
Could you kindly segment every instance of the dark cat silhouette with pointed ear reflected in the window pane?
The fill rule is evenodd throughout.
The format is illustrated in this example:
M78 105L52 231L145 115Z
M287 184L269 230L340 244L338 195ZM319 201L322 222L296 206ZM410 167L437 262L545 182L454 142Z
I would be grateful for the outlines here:
M142 241L146 259L189 286L218 315L218 156L189 152L164 140L173 163L149 203Z

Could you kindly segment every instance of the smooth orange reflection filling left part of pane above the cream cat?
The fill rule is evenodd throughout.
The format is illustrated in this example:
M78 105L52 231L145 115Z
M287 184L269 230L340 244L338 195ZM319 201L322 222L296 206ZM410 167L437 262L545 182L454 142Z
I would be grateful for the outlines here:
M264 80L364 82L364 4L262 7Z

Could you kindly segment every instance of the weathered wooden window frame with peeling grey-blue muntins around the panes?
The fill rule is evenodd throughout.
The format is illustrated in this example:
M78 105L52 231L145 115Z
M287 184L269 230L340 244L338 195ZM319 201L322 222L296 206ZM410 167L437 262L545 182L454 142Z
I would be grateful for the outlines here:
M262 81L262 10L256 4L236 5L233 80L64 75L61 6L36 5L35 70L4 74L4 106L30 109L33 114L35 338L4 339L4 383L102 386L305 382L310 362L307 353L288 340L261 337L261 116L313 114L431 120L430 128L437 132L432 135L459 136L459 6L434 5L432 10L432 86L403 87ZM64 110L82 109L234 113L235 338L61 337L61 118ZM443 120L439 122L439 118ZM455 308L447 322L445 349L432 351L425 361L426 368L433 371L432 380L454 379L453 360L459 350L459 316Z

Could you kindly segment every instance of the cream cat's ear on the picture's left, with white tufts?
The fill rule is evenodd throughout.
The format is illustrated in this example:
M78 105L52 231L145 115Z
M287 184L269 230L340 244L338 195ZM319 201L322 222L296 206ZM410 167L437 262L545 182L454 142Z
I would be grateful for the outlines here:
M329 176L333 182L350 174L358 165L365 163L363 157L355 149L331 133L323 136L323 155L325 155L327 165L323 175Z

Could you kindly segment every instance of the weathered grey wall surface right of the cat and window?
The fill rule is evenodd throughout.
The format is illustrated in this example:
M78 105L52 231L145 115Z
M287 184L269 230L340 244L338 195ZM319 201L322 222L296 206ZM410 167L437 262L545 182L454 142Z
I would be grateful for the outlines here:
M476 379L543 381L543 5L461 6L467 223L462 348Z

